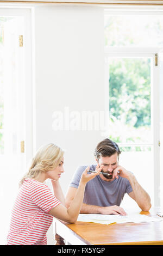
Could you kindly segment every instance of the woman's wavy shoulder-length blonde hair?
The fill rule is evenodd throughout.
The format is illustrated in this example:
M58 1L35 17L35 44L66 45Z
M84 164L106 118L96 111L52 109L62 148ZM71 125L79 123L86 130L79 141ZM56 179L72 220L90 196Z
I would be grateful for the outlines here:
M21 179L20 186L24 179L34 178L40 172L46 172L57 167L61 162L63 155L64 151L53 143L42 145L33 157L28 172Z

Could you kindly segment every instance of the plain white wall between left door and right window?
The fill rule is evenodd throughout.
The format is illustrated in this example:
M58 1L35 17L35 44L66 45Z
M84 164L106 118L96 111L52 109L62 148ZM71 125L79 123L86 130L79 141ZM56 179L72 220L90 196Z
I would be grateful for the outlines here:
M104 111L104 97L103 8L36 7L36 149L49 142L65 149L64 194L76 168L94 162L104 137L101 131L54 131L53 112Z

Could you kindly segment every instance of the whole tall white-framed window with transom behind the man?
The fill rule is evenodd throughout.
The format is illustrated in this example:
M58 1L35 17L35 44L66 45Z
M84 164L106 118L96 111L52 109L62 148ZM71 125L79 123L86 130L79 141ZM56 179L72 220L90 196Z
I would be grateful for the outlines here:
M140 11L130 13L114 11L113 15L109 10L105 13L105 81L109 109L106 136L120 146L120 164L134 173L150 194L152 204L158 206L160 64L156 61L163 46L163 16ZM123 202L124 206L127 202L128 206L134 204L129 197Z

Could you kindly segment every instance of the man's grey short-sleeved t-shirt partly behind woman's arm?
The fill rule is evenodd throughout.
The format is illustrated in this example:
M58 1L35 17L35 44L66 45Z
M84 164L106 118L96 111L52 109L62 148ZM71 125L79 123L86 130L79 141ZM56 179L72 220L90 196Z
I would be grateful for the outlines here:
M87 166L80 166L73 175L70 187L78 188L80 178ZM96 165L92 164L90 170L95 170ZM133 191L130 182L126 178L118 176L118 179L104 181L97 175L87 182L85 187L83 203L98 206L120 206L125 193Z

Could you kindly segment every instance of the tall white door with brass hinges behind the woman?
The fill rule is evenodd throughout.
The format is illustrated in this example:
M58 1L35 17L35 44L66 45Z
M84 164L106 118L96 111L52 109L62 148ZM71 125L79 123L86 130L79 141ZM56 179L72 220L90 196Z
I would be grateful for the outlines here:
M1 116L3 148L0 154L0 199L3 209L1 211L1 245L5 244L18 183L26 168L24 49L22 45L24 19L14 16L5 17L3 28L3 77L0 85L3 104Z

